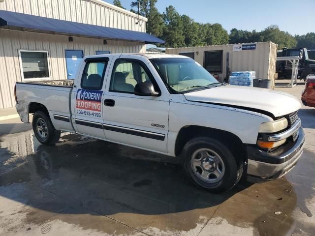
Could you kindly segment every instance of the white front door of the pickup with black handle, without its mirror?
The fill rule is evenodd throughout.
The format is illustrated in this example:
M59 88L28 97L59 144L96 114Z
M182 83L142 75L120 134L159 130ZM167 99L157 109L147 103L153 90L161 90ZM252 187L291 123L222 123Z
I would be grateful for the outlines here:
M148 59L113 58L104 94L106 139L160 153L167 150L170 94ZM159 79L159 78L158 78ZM160 96L137 96L137 83L151 81Z

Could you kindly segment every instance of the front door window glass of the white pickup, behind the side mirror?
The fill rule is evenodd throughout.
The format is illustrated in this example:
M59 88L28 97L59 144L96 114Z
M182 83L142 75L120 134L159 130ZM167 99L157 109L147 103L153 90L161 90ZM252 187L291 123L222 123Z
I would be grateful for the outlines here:
M133 93L140 82L150 81L141 63L130 59L117 59L114 64L109 91Z

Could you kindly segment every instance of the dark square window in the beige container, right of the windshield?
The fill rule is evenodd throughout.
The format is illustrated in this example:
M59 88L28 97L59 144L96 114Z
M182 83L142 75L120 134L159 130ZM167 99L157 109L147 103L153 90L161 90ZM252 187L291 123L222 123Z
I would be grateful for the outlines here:
M223 51L204 52L203 67L210 73L222 73Z

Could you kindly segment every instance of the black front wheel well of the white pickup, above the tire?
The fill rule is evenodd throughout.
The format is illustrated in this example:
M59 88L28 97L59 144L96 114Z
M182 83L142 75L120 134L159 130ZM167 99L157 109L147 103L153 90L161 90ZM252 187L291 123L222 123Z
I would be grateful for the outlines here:
M175 143L175 155L180 156L185 144L189 140L200 136L215 138L221 141L224 145L232 149L233 154L236 154L237 158L246 161L247 154L245 145L235 134L220 129L197 125L189 125L181 128Z

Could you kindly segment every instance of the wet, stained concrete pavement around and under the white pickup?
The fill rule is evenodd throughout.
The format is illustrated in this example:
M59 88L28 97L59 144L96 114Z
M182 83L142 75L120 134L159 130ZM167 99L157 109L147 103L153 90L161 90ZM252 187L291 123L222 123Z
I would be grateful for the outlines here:
M0 235L313 236L315 109L299 116L309 139L296 167L220 195L172 158L69 133L47 147L30 124L1 121Z

